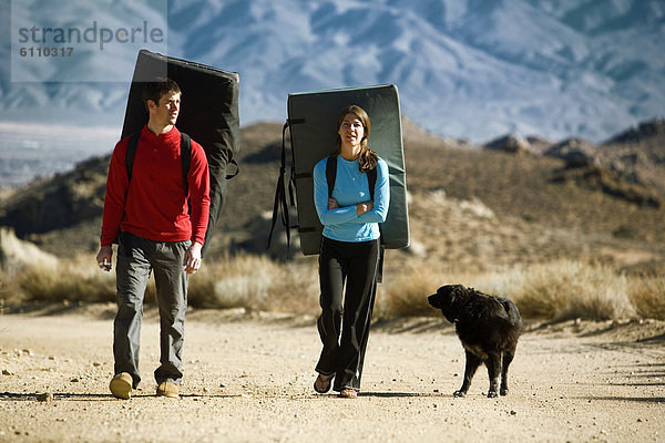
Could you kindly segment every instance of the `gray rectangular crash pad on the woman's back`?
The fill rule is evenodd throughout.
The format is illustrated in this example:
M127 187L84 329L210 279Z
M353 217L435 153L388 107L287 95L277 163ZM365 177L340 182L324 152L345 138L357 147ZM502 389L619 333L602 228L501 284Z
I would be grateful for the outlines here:
M349 87L288 95L293 179L300 249L305 255L319 253L323 230L314 205L314 166L335 153L337 117L351 104L367 111L371 121L368 145L388 163L390 172L390 207L381 226L385 246L389 249L409 246L407 177L397 86Z

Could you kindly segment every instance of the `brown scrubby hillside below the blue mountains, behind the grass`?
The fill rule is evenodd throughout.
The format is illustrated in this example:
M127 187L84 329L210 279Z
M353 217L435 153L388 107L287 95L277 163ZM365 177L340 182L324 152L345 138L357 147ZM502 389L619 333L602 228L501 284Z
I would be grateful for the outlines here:
M412 122L403 127L412 247L390 254L469 269L563 257L637 268L665 264L665 164L654 157L665 147L662 133L591 145L591 163L572 167L545 155L548 148L516 155L443 140ZM228 183L212 257L266 253L280 138L278 123L242 128L241 173ZM109 159L92 158L18 189L0 204L0 226L59 256L96 250ZM617 161L632 173L608 168ZM657 203L594 186L584 175L590 165L616 186L638 185Z

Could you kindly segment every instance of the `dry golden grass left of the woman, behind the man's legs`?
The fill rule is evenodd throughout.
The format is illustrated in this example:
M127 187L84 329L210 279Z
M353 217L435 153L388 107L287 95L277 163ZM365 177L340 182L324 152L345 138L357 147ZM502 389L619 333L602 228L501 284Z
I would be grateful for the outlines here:
M13 282L9 290L9 284ZM0 276L7 301L114 302L115 274L102 272L92 256L61 260L55 267L25 266ZM151 278L145 301L154 303ZM188 303L196 308L246 308L260 311L313 312L318 306L316 269L278 265L266 257L241 255L206 262L190 278Z

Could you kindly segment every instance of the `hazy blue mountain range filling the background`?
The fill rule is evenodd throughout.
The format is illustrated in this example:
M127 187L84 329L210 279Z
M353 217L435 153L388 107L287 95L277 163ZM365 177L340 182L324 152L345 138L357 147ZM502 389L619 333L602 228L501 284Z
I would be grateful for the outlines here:
M241 74L244 125L284 121L289 93L388 83L421 127L474 143L598 143L665 114L663 0L164 1L34 0L17 17L3 0L0 122L120 132L135 58L110 50L106 63L63 68L120 82L38 82L8 44L12 20L86 23L92 12L112 23L164 12L168 55Z

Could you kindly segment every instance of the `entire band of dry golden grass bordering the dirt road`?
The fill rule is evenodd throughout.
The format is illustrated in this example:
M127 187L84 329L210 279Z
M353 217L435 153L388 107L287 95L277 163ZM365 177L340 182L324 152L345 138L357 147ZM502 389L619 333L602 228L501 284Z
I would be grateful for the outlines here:
M114 275L101 272L90 256L62 260L55 268L25 267L13 276L1 275L0 284L4 306L115 300ZM387 271L379 286L376 317L436 316L427 296L447 284L508 297L524 318L665 319L665 277L628 276L605 265L573 260L474 274L437 270L411 261L399 272ZM154 302L154 293L151 281L147 302ZM314 261L285 265L263 256L229 256L206 262L190 279L190 305L197 308L316 315L318 293Z

